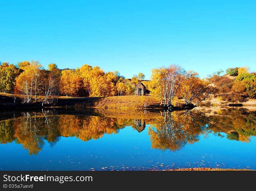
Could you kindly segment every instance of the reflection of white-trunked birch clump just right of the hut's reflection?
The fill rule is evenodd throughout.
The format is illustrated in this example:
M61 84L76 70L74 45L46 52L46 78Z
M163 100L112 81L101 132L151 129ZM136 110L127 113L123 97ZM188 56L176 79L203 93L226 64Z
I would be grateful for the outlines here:
M160 150L180 150L187 143L198 141L200 134L206 134L208 122L205 114L196 109L162 112L148 130L151 147Z

